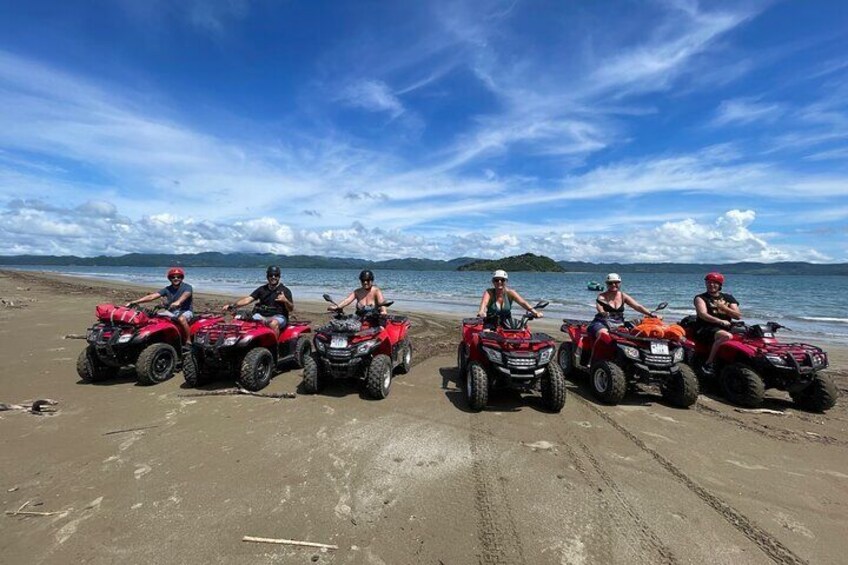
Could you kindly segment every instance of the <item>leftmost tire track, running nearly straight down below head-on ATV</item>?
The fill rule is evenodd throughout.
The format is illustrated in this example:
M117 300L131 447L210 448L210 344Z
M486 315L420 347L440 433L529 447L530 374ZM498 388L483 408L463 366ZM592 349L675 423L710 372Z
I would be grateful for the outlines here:
M474 507L477 511L477 539L483 565L526 563L524 546L501 477L492 433L481 420L471 416L471 475L474 480Z

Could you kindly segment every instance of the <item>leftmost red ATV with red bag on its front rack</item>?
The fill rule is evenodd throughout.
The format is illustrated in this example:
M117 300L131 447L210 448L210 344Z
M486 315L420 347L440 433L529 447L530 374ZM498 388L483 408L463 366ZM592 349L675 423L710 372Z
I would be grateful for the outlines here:
M135 365L140 384L156 384L180 369L188 336L170 311L98 304L95 315L98 322L88 329L88 346L77 359L83 381L113 378L122 367ZM195 317L191 334L220 319L214 314Z

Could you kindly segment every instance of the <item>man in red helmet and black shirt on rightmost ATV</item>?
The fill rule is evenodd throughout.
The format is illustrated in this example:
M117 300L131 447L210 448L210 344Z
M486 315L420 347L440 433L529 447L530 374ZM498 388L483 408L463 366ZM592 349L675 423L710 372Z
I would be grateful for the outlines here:
M724 275L721 273L707 273L704 277L707 292L695 297L695 311L698 313L698 326L695 337L698 341L713 342L710 355L704 365L705 373L712 373L713 359L722 343L732 336L728 331L731 320L742 317L739 311L739 302L732 294L722 292Z

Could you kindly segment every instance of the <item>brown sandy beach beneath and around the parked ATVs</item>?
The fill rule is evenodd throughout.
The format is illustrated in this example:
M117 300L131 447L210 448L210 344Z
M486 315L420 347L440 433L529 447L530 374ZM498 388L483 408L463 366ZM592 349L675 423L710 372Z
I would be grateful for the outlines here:
M711 395L679 410L650 389L610 407L582 383L560 414L515 392L469 413L459 320L420 312L413 369L383 401L344 383L276 400L186 396L180 374L80 382L85 342L64 336L150 290L0 271L0 402L59 403L0 412L0 562L845 562L848 346L827 346L841 397L826 414L774 391L759 412ZM534 327L563 338L558 320Z

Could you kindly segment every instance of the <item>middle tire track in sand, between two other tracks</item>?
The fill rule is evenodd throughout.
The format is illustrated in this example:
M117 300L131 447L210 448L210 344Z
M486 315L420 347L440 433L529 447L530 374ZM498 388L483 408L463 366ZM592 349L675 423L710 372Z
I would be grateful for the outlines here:
M591 487L597 498L601 509L602 520L602 522L597 524L598 529L604 532L604 534L617 531L632 545L640 546L645 554L650 555L650 558L646 560L647 563L676 565L678 561L671 549L662 542L656 532L648 526L645 519L633 508L633 505L630 504L630 501L622 492L621 487L618 486L603 466L601 466L589 447L571 433L566 438L563 438L561 434L557 435L560 436L560 446L571 459L574 468L583 477L583 480ZM577 444L580 451L582 451L582 455L572 447L572 443ZM593 474L586 468L586 460L588 460L594 470L594 475L597 475L600 481L596 480ZM601 485L605 486L606 490ZM612 497L607 493L612 493ZM619 507L624 509L625 514L635 524L635 529L624 523L625 520L622 515L616 512L616 508ZM612 524L610 524L611 522ZM618 527L613 528L613 524ZM599 563L613 563L615 561L615 558L609 551L611 545L608 540L601 540L598 547L603 551L603 554L594 556Z

